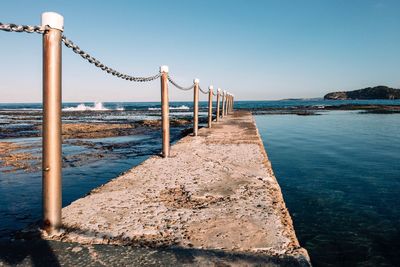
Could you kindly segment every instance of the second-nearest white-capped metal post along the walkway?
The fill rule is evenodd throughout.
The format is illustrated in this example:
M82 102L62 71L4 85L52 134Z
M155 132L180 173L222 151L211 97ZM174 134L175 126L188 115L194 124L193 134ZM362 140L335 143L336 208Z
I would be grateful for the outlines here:
M161 127L162 157L169 157L169 101L168 101L168 66L161 66Z

